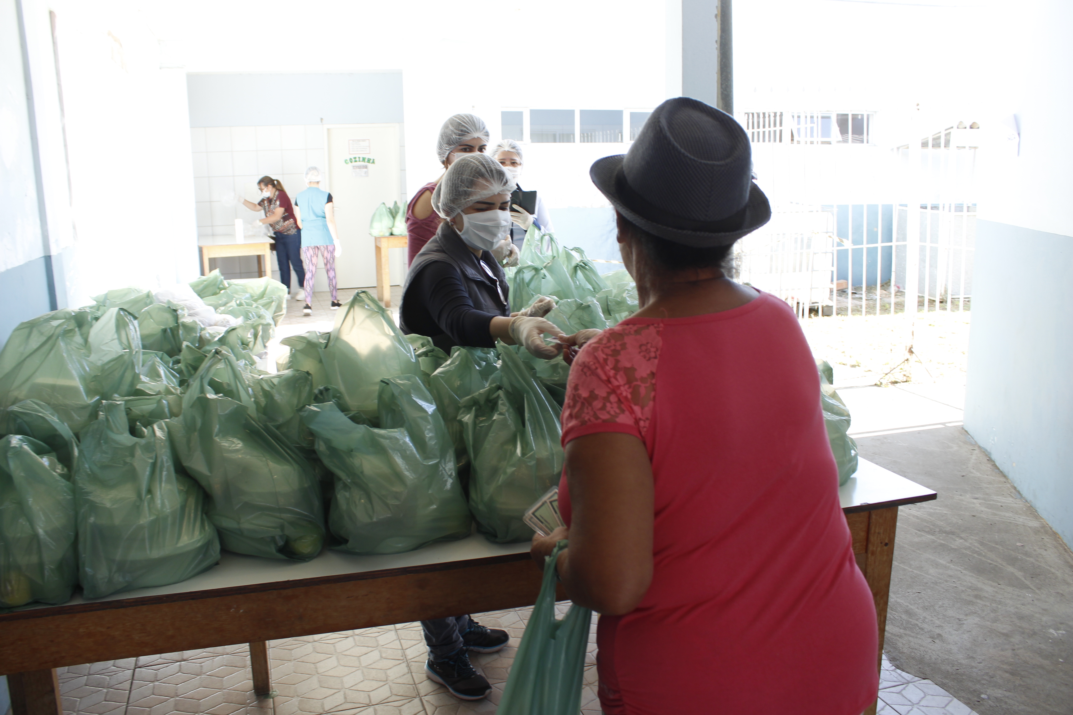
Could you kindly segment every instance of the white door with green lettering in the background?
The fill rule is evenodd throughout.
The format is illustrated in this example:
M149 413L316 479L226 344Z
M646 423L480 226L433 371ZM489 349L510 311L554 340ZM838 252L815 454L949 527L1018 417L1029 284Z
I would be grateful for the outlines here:
M376 244L369 220L381 203L401 203L399 124L346 124L327 129L328 191L335 203L342 255L336 258L340 288L377 284ZM392 251L392 283L405 278L405 251ZM398 254L398 255L395 255Z

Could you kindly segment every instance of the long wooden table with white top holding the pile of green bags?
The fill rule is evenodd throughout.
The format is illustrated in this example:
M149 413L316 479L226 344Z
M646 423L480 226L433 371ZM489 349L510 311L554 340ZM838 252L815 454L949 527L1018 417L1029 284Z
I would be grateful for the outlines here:
M882 657L898 506L936 493L861 460L839 496L876 599ZM225 552L181 583L0 614L0 674L14 715L57 715L56 668L249 643L254 690L267 694L269 640L531 606L540 585L528 543L480 535L389 556L327 551L308 563Z

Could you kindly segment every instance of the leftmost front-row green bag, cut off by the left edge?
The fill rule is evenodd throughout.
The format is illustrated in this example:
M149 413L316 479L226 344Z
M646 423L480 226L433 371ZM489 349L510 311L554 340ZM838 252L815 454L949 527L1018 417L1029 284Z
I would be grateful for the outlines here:
M78 570L70 478L43 442L0 437L0 610L71 598Z

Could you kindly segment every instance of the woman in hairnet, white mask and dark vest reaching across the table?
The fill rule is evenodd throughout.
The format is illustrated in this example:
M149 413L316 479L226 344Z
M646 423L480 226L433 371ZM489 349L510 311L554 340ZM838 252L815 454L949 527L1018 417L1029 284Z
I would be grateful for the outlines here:
M548 298L511 314L506 277L493 254L511 228L509 210L514 179L491 157L472 153L451 164L432 193L432 208L443 222L410 266L399 309L406 333L428 336L445 352L455 345L494 347L497 340L525 345L552 359L561 344L544 334L562 331L544 319L555 303ZM422 621L428 645L426 675L457 698L480 700L491 691L469 660L469 651L495 653L510 641L505 630L482 626L469 615Z

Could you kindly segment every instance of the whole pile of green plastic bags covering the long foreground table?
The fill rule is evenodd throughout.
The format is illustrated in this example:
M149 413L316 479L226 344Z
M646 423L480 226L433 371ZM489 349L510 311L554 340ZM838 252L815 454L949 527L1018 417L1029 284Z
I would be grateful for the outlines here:
M568 333L637 310L626 271L600 274L535 228L508 274L515 310L553 296ZM23 323L0 351L0 611L167 585L221 550L307 561L474 527L532 536L523 515L563 465L561 357L447 355L359 291L330 331L284 338L265 372L282 284L214 271L179 287L109 291ZM818 367L844 481L849 412Z

